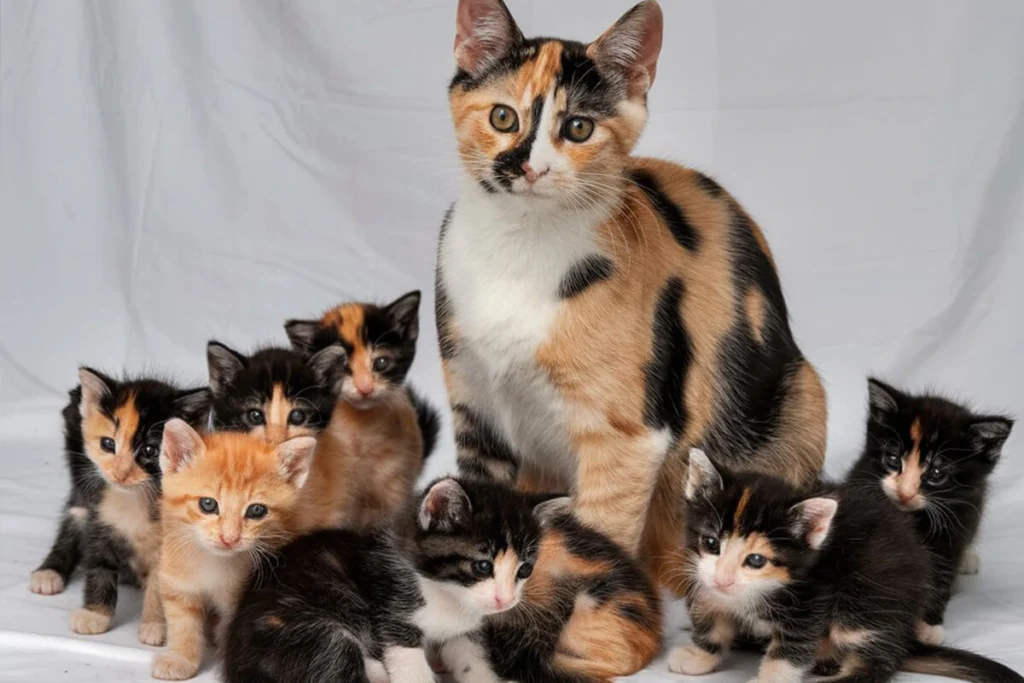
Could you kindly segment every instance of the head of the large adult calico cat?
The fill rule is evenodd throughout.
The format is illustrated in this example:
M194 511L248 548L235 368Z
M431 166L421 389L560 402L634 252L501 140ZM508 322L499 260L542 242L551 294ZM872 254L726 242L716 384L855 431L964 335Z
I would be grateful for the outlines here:
M647 0L588 44L525 39L501 0L460 0L449 103L469 177L563 206L613 194L647 121L662 24Z

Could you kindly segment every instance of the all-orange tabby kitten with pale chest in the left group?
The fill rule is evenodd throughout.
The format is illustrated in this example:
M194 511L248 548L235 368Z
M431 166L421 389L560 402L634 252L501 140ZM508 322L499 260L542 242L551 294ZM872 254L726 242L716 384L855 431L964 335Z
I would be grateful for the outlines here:
M164 427L164 540L158 578L167 651L154 656L155 678L196 675L208 608L220 618L216 641L223 645L256 559L295 537L315 444L311 436L276 446L250 434L201 436L180 420Z

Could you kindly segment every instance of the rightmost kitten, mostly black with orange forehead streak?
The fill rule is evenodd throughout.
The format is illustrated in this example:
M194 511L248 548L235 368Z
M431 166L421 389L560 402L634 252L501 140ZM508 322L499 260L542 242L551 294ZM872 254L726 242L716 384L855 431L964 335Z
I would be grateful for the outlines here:
M933 591L918 635L937 645L957 569L978 570L971 546L988 477L1014 422L939 396L904 393L873 378L867 391L867 440L849 478L878 485L909 513L931 551Z

